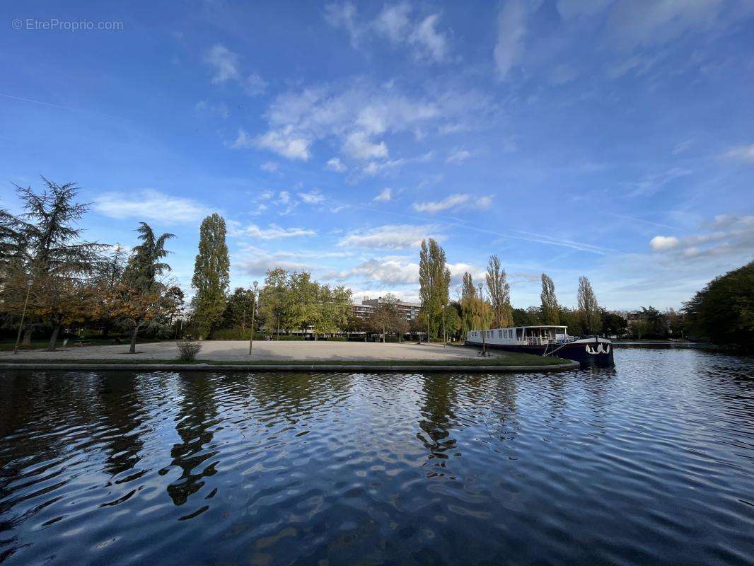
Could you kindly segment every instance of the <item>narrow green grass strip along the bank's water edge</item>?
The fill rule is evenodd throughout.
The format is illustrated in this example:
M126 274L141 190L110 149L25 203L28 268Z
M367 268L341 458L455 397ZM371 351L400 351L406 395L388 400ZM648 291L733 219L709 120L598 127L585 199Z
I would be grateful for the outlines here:
M453 367L453 366L498 366L505 367L510 365L559 365L569 363L569 360L562 358L543 358L533 354L507 353L504 357L499 358L457 358L452 360L196 360L196 361L177 361L177 360L149 360L149 359L82 359L82 360L30 360L30 359L3 359L0 363L18 363L18 364L156 364L156 365L406 365L406 366L434 366L434 367Z

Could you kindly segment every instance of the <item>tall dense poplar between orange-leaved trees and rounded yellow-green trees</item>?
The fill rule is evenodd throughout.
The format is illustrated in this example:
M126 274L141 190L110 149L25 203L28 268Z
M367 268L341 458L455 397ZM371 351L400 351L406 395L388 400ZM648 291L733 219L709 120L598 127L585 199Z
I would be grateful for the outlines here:
M230 284L230 260L225 245L225 220L217 213L205 218L199 229L199 253L194 263L192 287L194 319L203 336L212 334L225 312Z

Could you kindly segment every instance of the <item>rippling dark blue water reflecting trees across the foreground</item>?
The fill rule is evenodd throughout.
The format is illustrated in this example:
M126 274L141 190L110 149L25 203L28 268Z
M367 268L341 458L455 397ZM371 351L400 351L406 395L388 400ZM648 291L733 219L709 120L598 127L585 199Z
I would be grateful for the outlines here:
M752 564L754 359L6 371L3 564Z

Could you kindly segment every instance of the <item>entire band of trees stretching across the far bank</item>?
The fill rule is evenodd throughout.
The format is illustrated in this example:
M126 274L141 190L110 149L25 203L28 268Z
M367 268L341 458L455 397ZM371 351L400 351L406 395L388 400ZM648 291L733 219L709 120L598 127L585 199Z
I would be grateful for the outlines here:
M20 331L27 345L40 336L54 349L72 332L103 339L124 333L132 352L139 335L246 340L252 330L271 337L371 332L383 340L405 334L438 340L462 339L472 329L541 324L567 325L572 335L691 335L737 347L754 342L751 263L712 281L683 312L648 307L627 320L624 313L599 306L586 277L579 279L575 309L559 304L544 273L540 306L514 308L507 274L495 255L484 281L475 283L465 273L452 299L445 251L428 238L419 254L418 316L407 320L397 297L388 294L365 320L354 315L350 289L320 284L305 271L270 269L261 286L254 281L231 292L225 220L218 214L201 223L194 296L186 305L166 261L173 234L158 235L140 223L128 252L86 241L76 227L87 212L87 205L75 201L77 187L43 181L42 192L17 187L23 214L0 210L0 317L5 336Z

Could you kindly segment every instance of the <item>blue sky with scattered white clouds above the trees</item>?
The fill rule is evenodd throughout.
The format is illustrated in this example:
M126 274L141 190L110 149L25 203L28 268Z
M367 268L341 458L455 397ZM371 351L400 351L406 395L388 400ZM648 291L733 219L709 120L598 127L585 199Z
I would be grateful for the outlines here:
M754 2L4 2L0 207L78 183L84 237L225 217L231 285L452 296L501 258L575 305L678 308L754 258Z

